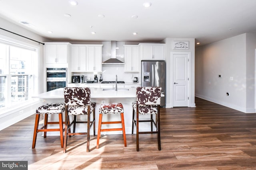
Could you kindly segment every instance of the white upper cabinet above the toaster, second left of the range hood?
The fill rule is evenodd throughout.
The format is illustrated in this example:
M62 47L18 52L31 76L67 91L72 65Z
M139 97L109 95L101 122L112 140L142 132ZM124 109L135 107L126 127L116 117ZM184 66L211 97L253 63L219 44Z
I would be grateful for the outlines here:
M71 46L71 72L86 72L86 46Z

